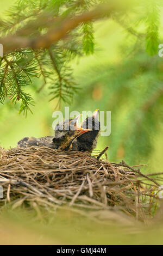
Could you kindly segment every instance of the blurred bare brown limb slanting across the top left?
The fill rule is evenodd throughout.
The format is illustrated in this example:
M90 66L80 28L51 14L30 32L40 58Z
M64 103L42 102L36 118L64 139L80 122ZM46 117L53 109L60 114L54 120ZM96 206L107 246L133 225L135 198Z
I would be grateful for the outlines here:
M122 11L124 7L127 7L126 2L122 4L120 1L111 1L109 4L98 5L94 10L74 17L70 16L65 19L60 17L57 21L57 27L49 29L45 35L37 36L35 39L15 34L14 36L3 38L1 43L4 45L4 52L14 51L17 48L48 48L60 39L65 38L68 32L78 27L81 23L98 20L105 16L109 17L113 11ZM51 21L51 27L54 25L56 25L56 22L53 24L53 21Z

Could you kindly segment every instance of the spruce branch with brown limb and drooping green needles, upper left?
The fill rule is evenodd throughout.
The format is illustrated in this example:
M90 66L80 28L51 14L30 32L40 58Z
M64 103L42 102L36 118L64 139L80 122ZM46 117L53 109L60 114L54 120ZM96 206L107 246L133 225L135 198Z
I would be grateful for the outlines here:
M5 96L15 103L21 99L20 112L26 112L33 99L22 88L41 76L43 84L37 92L48 84L51 100L71 103L79 88L70 60L94 52L93 22L114 16L124 20L135 6L137 3L120 0L18 1L8 17L0 20L0 43L9 61L5 64L0 58L0 101L3 103ZM159 17L158 5L155 7L154 17Z

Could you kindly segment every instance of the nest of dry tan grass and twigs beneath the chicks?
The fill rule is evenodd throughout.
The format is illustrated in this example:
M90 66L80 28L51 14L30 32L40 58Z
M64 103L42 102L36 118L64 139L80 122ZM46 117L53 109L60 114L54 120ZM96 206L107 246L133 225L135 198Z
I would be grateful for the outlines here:
M1 208L68 208L89 216L123 212L139 220L157 208L159 184L137 166L99 160L102 154L46 147L0 149ZM94 214L92 214L94 212Z

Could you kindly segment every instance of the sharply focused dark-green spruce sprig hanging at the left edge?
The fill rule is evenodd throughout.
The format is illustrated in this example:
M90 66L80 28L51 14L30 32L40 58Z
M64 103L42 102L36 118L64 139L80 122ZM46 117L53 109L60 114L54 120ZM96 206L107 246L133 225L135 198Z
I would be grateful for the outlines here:
M12 60L9 60L12 59ZM33 99L28 93L24 93L24 87L32 83L31 77L36 76L37 67L32 57L32 51L22 50L15 52L14 56L8 54L2 59L1 63L1 103L5 96L8 96L12 103L16 104L22 100L20 113L27 115L30 105L33 105Z

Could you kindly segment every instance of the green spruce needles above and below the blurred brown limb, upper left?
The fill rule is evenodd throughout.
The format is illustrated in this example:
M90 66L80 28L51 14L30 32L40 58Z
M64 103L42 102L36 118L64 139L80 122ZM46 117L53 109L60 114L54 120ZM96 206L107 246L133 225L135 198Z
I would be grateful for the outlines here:
M65 0L20 0L8 11L8 17L0 21L0 34L1 36L29 34L33 37L41 35L51 27L47 19L83 13L85 7L88 10L97 2L80 4ZM70 38L59 41L48 49L18 49L5 54L1 59L0 69L1 103L4 102L5 97L9 97L13 103L21 100L20 112L27 114L30 105L34 102L32 96L25 92L24 87L33 84L33 77L42 77L43 84L37 88L38 92L48 84L51 100L58 98L59 104L61 101L71 103L74 92L79 88L73 79L68 62L84 53L93 53L94 47L92 23L85 23L80 27L81 29L70 33Z

